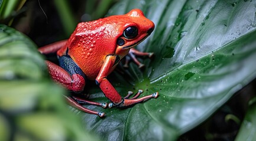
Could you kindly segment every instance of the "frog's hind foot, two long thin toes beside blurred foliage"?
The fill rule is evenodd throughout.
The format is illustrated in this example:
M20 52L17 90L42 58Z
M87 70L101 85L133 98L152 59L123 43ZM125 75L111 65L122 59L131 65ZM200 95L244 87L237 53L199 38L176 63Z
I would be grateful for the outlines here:
M103 108L106 108L108 106L107 103L90 102L89 100L80 99L80 98L77 98L77 97L74 97L74 96L73 96L73 98L65 96L65 98L66 98L67 102L71 106L73 106L74 108L82 110L83 112L86 112L86 113L98 115L100 117L105 116L105 113L103 113L103 112L96 112L96 111L84 108L82 105L80 105L80 103L85 103L85 104L89 104L89 105L96 105L96 106L102 106ZM77 102L76 102L76 100L77 100Z

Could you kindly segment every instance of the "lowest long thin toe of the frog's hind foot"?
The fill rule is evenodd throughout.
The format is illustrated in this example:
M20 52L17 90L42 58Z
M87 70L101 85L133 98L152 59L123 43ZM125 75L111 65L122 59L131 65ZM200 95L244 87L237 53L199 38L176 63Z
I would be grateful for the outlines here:
M105 115L105 113L103 113L103 112L96 112L94 110L84 108L82 105L80 105L78 102L76 102L76 100L70 98L69 96L65 96L65 98L71 106L73 106L74 108L77 108L79 110L82 110L83 112L90 113L93 115L98 115L100 117L103 117Z

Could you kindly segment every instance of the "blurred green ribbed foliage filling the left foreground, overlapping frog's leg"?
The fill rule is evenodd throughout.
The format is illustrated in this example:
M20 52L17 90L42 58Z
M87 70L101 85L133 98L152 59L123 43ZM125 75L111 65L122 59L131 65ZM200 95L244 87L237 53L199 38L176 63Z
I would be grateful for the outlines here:
M0 25L0 140L95 140L67 110L65 93L34 43Z

